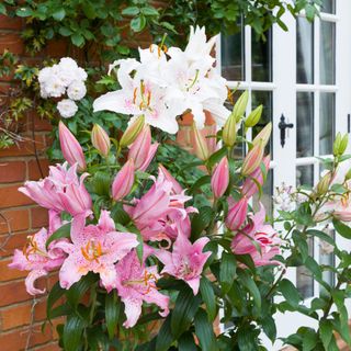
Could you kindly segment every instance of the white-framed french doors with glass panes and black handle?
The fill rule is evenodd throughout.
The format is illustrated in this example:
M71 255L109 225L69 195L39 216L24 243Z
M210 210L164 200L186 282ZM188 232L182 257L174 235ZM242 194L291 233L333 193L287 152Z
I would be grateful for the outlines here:
M320 18L309 23L302 13L296 20L285 14L288 27L278 25L258 42L249 26L241 33L222 37L218 64L230 88L250 91L248 110L264 105L262 124L272 121L273 136L269 146L272 165L263 202L272 207L275 186L310 184L322 171L316 156L332 152L337 132L350 133L351 114L351 0L324 0ZM279 127L282 115L292 128L285 129L285 140ZM253 134L258 133L258 128ZM253 137L249 136L249 137ZM330 231L330 235L333 235ZM347 241L341 245L349 245ZM333 264L332 253L326 253L319 242L309 242L310 254L321 263ZM291 279L305 303L318 296L308 272L291 269ZM333 275L325 275L332 283ZM299 326L314 326L313 319L299 314L276 315L278 335L295 332ZM269 347L270 350L278 350Z

